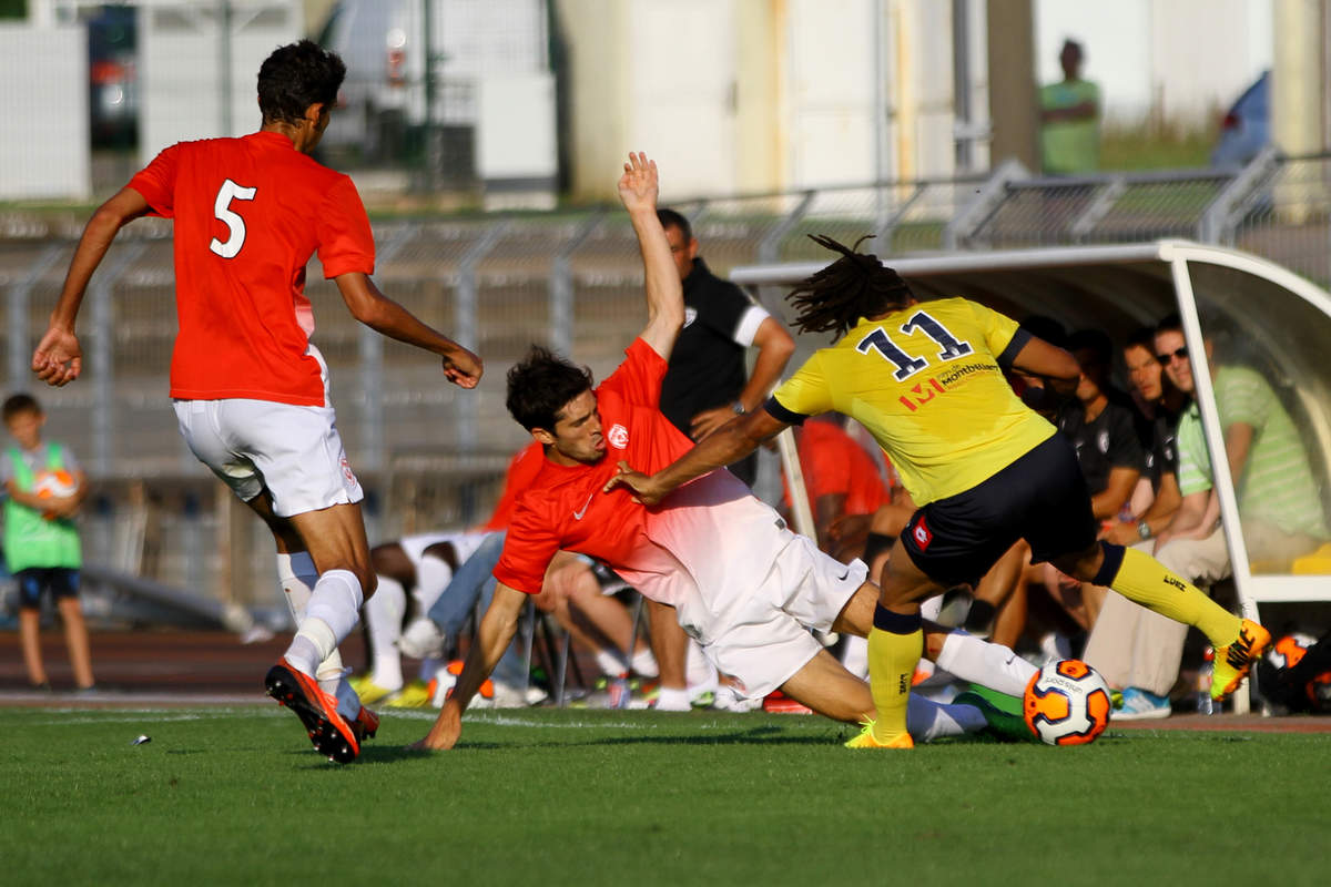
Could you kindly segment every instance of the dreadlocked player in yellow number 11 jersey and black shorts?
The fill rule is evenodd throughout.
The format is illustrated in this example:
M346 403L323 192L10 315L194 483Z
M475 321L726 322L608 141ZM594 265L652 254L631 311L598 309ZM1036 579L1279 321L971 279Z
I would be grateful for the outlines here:
M973 585L1018 539L1030 543L1037 563L1201 629L1217 649L1213 696L1238 689L1270 642L1266 629L1226 612L1149 555L1095 541L1077 455L1004 380L1002 370L1014 367L1071 394L1071 355L974 302L920 305L876 255L815 239L841 258L791 293L795 324L840 340L809 358L764 410L735 419L651 477L623 465L607 489L627 484L639 501L669 508L692 485L666 499L671 491L829 410L873 434L920 508L884 570L869 634L877 718L852 747L912 746L905 705L922 645L920 602Z

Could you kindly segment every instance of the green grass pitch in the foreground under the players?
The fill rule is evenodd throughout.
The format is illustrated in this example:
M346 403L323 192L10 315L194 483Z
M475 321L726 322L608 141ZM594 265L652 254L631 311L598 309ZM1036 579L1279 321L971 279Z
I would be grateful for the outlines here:
M1331 735L849 751L816 717L5 709L8 884L1324 884ZM132 745L140 734L152 741Z

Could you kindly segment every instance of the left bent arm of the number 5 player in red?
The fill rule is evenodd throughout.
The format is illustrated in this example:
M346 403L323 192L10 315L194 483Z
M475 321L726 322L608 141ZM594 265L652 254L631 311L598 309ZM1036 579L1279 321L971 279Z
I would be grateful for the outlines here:
M83 305L88 282L120 229L146 215L148 210L148 201L142 194L132 188L122 188L88 219L75 255L69 261L65 283L60 289L60 301L51 313L51 324L32 352L32 371L47 384L65 386L83 372L83 348L79 346L79 336L75 335L75 322L79 319L79 307Z

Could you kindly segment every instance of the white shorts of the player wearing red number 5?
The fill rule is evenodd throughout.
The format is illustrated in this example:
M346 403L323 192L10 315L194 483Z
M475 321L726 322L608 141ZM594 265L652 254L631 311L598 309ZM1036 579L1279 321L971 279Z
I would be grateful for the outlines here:
M176 400L190 451L241 501L268 489L280 517L365 497L337 432L331 407L272 400Z

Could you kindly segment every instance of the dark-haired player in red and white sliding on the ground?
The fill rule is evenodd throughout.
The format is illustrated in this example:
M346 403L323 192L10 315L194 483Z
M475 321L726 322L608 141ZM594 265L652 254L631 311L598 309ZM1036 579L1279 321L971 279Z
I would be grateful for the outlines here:
M655 164L631 154L619 194L643 253L647 327L595 388L590 371L544 348L534 347L510 370L508 411L544 445L544 463L514 508L479 641L453 698L417 747L457 742L462 711L512 638L524 596L540 592L546 567L560 549L604 561L644 596L673 606L685 632L720 673L741 681L747 697L780 688L815 711L852 722L873 707L868 685L809 632L869 632L878 593L865 581L861 561L841 564L788 531L725 469L651 512L634 505L626 491L602 492L616 460L666 465L692 445L658 407L684 307L656 218ZM934 634L930 652L953 674L988 678L1008 693L1020 693L1034 670L1010 650L965 634ZM924 738L985 726L984 714L966 705L916 698L910 715Z

